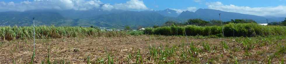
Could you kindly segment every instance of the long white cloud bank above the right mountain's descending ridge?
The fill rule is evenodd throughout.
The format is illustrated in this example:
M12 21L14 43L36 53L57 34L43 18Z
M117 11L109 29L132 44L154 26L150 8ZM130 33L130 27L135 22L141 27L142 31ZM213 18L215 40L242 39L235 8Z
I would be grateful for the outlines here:
M259 16L274 16L274 17L285 17L286 16L286 6L271 6L271 7L249 7L249 6L236 6L233 4L224 5L222 2L211 2L206 3L208 8L228 11L235 13L244 13Z

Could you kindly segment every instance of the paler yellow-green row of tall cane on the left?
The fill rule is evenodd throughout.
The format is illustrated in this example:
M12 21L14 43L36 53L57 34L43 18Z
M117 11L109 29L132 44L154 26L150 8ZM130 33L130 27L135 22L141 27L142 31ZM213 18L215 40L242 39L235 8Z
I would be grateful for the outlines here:
M33 27L4 26L0 27L0 39L32 39ZM36 26L35 38L61 38L61 37L124 37L124 31L101 31L98 28L90 27L55 27L55 26Z

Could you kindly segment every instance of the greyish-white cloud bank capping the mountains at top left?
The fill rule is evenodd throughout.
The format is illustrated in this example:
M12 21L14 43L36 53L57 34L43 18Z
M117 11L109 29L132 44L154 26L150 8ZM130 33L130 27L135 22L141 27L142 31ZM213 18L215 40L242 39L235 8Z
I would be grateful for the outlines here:
M74 9L74 10L89 10L99 8L99 0L34 0L22 1L20 3L0 2L0 11L27 11L34 9Z

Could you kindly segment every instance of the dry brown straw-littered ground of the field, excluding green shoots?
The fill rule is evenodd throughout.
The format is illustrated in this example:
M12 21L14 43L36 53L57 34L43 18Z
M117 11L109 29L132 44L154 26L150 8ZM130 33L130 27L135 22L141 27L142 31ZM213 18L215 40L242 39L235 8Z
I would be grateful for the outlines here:
M275 46L262 46L257 47L249 52L250 56L245 56L245 51L225 51L221 48L221 38L196 38L196 37L182 37L182 36L157 36L157 35L141 35L141 36L128 36L128 37L84 37L84 38L60 38L60 39L36 39L36 54L34 63L41 63L50 55L50 61L64 59L67 63L87 63L87 56L90 60L97 63L98 59L104 58L105 63L108 61L107 52L114 58L114 63L135 63L135 59L128 60L128 54L136 53L140 49L143 63L152 64L156 63L154 60L149 60L149 49L151 45L164 46L178 45L193 41L196 47L203 49L202 42L207 41L213 52L203 52L199 54L199 61L196 63L233 63L237 58L241 63L267 63L267 56L276 51ZM226 38L229 47L232 49L237 46L233 39ZM284 41L282 41L285 43ZM29 63L33 54L33 40L13 40L1 41L0 46L0 63ZM217 47L217 48L215 48ZM49 50L49 51L48 51ZM262 53L259 54L261 51ZM175 60L175 63L193 63L189 61L182 61L179 58L180 51L176 52L178 55L170 57L166 62ZM279 63L281 58L285 60L285 53L280 57L273 58L271 63ZM213 61L212 61L213 60Z

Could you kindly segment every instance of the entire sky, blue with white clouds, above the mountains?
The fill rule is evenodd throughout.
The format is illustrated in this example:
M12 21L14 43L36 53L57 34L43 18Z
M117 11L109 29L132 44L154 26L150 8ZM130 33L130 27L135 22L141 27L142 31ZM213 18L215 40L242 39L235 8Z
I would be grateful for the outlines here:
M99 8L105 11L122 9L132 11L164 10L181 13L209 8L221 11L245 13L259 16L286 17L286 0L1 0L0 11L26 11L30 9L74 9Z

